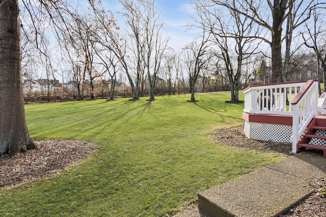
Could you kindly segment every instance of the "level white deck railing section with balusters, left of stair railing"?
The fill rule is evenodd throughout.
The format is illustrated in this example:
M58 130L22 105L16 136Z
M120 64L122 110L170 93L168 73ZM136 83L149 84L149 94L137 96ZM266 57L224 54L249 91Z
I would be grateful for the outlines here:
M247 87L244 93L244 112L254 114L292 115L292 106L287 102L297 95L306 81Z

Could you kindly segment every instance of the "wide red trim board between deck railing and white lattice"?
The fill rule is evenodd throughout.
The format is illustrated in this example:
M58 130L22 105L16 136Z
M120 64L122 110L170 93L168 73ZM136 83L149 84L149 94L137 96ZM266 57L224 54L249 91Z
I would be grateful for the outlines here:
M269 123L271 125L292 126L292 116L272 114L249 114L242 113L242 119L248 122Z

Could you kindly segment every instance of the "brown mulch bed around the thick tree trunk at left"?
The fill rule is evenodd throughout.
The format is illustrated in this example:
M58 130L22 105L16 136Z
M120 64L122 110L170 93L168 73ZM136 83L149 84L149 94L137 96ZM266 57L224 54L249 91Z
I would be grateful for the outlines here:
M71 164L84 161L95 145L80 140L34 141L37 149L11 157L0 156L0 188L58 173Z

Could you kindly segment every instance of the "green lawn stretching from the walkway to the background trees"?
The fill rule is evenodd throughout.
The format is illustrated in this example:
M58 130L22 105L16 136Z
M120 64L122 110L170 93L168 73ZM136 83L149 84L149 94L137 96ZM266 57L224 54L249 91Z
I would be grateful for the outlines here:
M224 103L229 92L189 98L26 105L32 138L84 139L98 152L59 175L1 189L0 216L166 216L202 190L281 160L208 138L242 125L243 104Z

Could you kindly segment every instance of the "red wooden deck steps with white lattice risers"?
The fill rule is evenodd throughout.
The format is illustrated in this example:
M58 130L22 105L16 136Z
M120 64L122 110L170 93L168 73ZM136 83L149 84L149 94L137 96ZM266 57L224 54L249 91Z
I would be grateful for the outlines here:
M306 133L297 143L296 151L303 151L306 148L322 150L323 157L326 158L326 119L312 119Z

